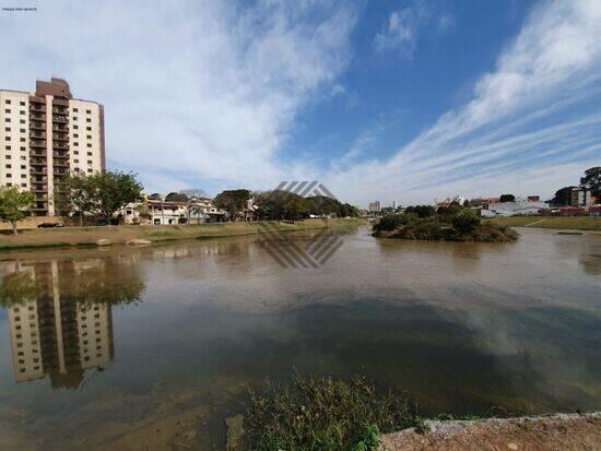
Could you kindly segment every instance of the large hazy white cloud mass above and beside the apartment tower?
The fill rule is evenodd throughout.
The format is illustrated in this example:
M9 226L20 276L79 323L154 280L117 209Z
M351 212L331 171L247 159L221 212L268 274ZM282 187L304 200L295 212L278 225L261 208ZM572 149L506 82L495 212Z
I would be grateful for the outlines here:
M75 96L98 99L109 164L135 168L151 190L269 187L303 170L275 153L308 102L340 92L356 20L335 2L37 7L0 16L0 39L11 43L0 86L61 76Z

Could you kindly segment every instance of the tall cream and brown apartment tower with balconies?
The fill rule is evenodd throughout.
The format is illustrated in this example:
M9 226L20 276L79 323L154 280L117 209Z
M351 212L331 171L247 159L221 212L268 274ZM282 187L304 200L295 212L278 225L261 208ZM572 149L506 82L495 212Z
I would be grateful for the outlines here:
M70 171L105 169L104 107L73 98L64 80L37 81L35 93L0 90L0 186L34 192L36 215L55 214Z

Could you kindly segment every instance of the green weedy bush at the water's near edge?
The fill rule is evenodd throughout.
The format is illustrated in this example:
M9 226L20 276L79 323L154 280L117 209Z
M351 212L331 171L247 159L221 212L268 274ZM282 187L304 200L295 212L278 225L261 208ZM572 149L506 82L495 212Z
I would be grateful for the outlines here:
M375 450L380 434L421 427L405 393L378 393L364 378L300 377L250 392L244 449Z

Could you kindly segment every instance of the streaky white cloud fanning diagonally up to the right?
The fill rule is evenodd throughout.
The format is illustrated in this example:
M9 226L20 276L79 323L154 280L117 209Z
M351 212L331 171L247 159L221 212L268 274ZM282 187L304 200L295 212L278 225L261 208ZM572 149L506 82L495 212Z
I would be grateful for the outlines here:
M332 170L329 186L363 203L406 203L455 192L550 195L577 182L601 156L599 36L600 2L541 3L471 102L387 162Z

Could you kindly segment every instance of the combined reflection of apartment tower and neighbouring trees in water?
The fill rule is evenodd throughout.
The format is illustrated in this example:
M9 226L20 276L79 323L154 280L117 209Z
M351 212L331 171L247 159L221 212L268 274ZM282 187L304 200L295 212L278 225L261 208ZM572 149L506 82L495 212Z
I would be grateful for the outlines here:
M87 369L104 371L115 354L113 306L139 301L144 289L131 269L115 259L3 262L14 380L76 389Z

